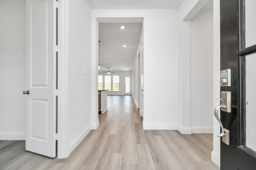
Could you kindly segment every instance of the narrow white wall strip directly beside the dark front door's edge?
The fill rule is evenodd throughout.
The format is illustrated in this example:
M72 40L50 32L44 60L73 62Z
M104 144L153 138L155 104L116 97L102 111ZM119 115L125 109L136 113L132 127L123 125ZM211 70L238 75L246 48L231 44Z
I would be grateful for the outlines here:
M220 1L213 1L213 98L212 112L220 104L214 100L220 98ZM214 117L214 115L212 115ZM220 124L213 118L213 151L212 161L220 166Z

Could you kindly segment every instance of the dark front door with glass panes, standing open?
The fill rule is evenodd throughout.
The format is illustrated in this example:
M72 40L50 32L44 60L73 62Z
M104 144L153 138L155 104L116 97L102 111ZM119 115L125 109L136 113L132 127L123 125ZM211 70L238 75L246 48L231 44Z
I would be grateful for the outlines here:
M229 145L220 140L220 169L256 170L256 0L220 0L220 70L225 69L230 86L224 80L220 91L230 92L231 111L220 111L220 119L230 138Z

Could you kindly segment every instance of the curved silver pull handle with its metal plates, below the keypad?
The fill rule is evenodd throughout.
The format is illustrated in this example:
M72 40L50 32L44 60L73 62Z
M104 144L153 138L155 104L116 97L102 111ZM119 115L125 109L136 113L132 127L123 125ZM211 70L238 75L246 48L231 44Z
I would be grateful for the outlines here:
M217 137L222 137L222 142L229 145L229 130L225 129L222 125L222 122L220 121L220 118L218 117L218 110L221 108L222 111L231 113L232 112L232 104L231 104L231 92L221 92L221 98L216 99L220 100L220 105L216 106L214 109L214 116L216 117L217 121L220 123L221 133L217 135Z

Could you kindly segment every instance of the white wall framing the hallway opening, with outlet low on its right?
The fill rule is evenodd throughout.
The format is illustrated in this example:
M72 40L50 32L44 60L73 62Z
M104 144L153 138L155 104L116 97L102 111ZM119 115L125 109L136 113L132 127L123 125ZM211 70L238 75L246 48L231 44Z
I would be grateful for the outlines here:
M97 17L144 18L144 129L177 129L178 84L173 83L178 81L177 10L92 10L92 70L95 77L98 75ZM170 74L161 74L165 72ZM161 84L160 88L158 83ZM95 96L96 87L96 81L92 80L92 93ZM92 123L97 123L97 106L93 105ZM157 112L157 117L152 116L153 111Z

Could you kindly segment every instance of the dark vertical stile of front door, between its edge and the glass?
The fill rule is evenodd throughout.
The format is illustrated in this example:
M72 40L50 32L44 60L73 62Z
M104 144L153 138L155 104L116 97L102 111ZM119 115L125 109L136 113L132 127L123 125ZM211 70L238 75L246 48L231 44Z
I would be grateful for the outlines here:
M220 140L220 167L222 170L237 169L237 141L238 141L238 36L237 10L238 4L234 0L220 0L220 70L231 69L230 87L222 86L220 91L232 94L232 112L220 111L223 127L230 131L230 145ZM228 8L228 9L227 9Z

